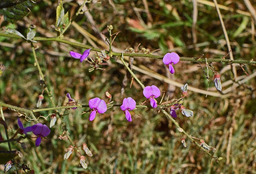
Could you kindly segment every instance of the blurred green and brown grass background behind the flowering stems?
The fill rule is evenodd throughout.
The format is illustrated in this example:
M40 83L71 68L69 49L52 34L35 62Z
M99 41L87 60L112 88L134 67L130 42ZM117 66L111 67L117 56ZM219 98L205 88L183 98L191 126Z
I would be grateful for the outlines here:
M70 12L72 18L79 5L76 1L62 2L65 12ZM118 49L119 52L128 47L135 49L140 44L138 49L161 49L153 54L164 55L175 51L186 57L204 54L206 58L221 58L228 49L218 14L210 3L212 2L198 0L196 39L192 33L194 8L190 0L93 0L86 4L88 10L85 11L88 13L79 15L75 20L82 29L71 25L64 38L106 49L99 41L104 41L102 33L108 36L107 25L113 25L112 33L120 31L113 43L113 49ZM255 60L255 24L244 1L220 0L218 3L222 4L220 11L234 59ZM12 26L26 35L30 24L34 24L36 37L55 37L57 31L50 26L56 25L57 6L58 1L39 1L27 17L15 24L0 20L1 27ZM0 31L3 32L2 29ZM0 37L0 41L0 63L6 66L0 77L0 101L22 108L36 108L37 96L42 93L42 86L30 43L6 37ZM110 59L106 70L89 73L88 64L80 63L69 55L69 51L84 50L55 41L38 42L34 45L37 47L36 54L45 74L46 85L56 105L62 106L68 102L65 98L67 92L82 105L88 104L88 100L94 97L106 100L106 91L112 95L115 104L120 104L124 97L134 98L137 104L144 102L142 89L135 80L132 88L127 87L124 96L120 95L126 70L116 59ZM95 54L91 53L90 56L95 57ZM12 149L21 151L24 155L23 158L16 158L17 162L29 165L35 173L256 173L255 78L232 89L223 98L205 97L190 90L190 86L207 90L208 81L202 69L196 67L198 65L180 62L175 65L175 75L170 76L161 60L134 60L134 65L143 65L148 70L148 74L134 70L138 78L145 85L158 86L161 91L170 94L170 98L178 98L180 88L155 79L150 74L166 74L176 82L188 83L189 96L184 100L184 106L193 110L195 115L187 118L178 113L176 120L190 135L204 139L208 145L215 147L215 155L223 157L221 161L215 162L187 139L187 147L183 147L180 132L161 112L138 109L142 115L138 117L131 111L132 122L128 123L123 112L115 107L108 109L106 115L97 114L92 122L88 120L89 113L80 115L87 108L59 111L64 115L64 123L72 140L79 141L77 145L86 143L92 151L92 157L86 156L86 170L79 167L79 158L74 152L68 160L63 160L70 142L58 139L62 135L60 119L51 128L47 139L42 139L40 147L35 148L34 138L32 141L22 140L22 146L20 143L12 143ZM228 66L223 67L220 63L213 63L213 66L218 72L223 71L222 84L232 79ZM255 67L248 66L245 70L252 74ZM238 76L244 76L240 66L237 73ZM216 91L211 88L214 86L212 72L209 80L210 90ZM230 85L223 88L230 88ZM42 107L50 106L52 103L45 95ZM18 129L19 113L3 109L11 137ZM36 117L47 117L53 112L42 111L36 113ZM40 117L39 121L49 125L50 118L47 117L46 121ZM25 124L24 119L23 123ZM3 134L2 127L0 130ZM7 143L1 143L0 146L8 149Z

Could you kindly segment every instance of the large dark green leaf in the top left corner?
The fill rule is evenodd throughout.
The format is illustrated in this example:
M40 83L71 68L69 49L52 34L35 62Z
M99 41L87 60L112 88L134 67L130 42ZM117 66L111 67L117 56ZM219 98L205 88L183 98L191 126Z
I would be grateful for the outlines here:
M14 23L22 19L36 5L38 0L1 0L0 14L5 20Z

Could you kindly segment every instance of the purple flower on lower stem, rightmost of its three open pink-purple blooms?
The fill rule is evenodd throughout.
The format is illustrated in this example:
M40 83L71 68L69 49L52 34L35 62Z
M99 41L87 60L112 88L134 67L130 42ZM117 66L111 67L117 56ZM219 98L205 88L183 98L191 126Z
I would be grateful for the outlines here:
M146 86L143 90L143 95L149 99L150 105L152 108L157 107L157 102L155 98L158 98L160 96L160 90L158 87L152 85L152 86Z

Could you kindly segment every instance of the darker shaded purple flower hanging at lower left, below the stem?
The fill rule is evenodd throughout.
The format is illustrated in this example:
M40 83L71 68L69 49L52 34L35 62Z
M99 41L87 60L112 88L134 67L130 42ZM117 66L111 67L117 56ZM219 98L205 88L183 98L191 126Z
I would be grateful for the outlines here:
M36 147L38 147L42 141L42 137L46 137L50 134L51 130L46 125L42 123L37 123L36 125L32 126L33 133L37 136L36 139Z

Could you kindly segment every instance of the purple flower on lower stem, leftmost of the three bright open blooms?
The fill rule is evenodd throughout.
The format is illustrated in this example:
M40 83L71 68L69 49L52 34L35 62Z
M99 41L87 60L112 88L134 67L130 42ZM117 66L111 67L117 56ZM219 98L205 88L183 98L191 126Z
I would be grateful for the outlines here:
M92 113L90 114L89 120L94 120L96 113L104 113L107 111L107 105L104 100L100 100L100 98L92 98L89 100L89 107L92 109Z

